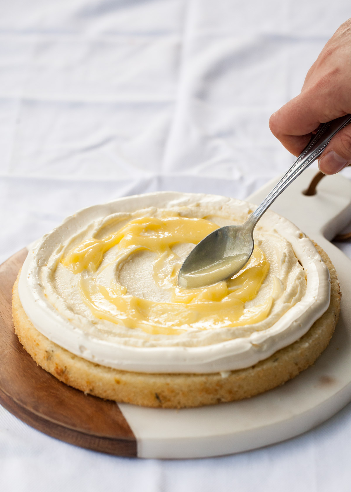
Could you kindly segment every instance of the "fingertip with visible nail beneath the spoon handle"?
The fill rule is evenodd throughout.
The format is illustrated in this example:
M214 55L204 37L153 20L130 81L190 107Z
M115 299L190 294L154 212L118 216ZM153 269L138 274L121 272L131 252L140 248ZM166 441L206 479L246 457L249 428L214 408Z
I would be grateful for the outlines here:
M335 174L351 163L351 127L340 130L328 143L318 160L323 174Z

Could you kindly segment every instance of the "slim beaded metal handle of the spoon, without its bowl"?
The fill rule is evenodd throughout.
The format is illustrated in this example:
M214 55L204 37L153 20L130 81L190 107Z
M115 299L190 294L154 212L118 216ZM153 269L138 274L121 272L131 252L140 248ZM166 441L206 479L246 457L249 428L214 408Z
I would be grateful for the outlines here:
M282 179L274 186L272 191L265 197L261 205L251 214L250 221L254 224L261 218L267 208L274 200L292 183L307 167L322 154L332 137L342 128L351 123L351 114L324 123L314 135L307 147L297 157L292 167L285 173Z

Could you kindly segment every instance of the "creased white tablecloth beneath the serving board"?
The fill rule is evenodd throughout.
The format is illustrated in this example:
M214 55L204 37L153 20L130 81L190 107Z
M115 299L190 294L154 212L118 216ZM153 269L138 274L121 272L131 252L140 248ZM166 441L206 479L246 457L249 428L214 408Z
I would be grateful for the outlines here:
M79 208L152 190L245 198L292 162L269 115L346 0L0 1L0 260ZM240 455L143 461L52 439L0 407L0 490L351 490L351 405Z

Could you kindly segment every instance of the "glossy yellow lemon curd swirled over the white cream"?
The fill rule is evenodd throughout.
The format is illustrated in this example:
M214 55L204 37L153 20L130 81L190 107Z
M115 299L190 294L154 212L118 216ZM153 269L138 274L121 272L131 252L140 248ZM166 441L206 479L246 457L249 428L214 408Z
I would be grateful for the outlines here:
M245 307L246 302L256 297L269 270L264 253L257 246L249 262L233 278L197 289L177 286L177 274L184 258L176 254L174 246L196 245L217 228L218 225L205 218L142 217L130 220L103 239L83 241L61 263L80 275L80 294L94 317L127 328L139 328L153 335L177 335L184 331L258 323L268 316L273 298ZM154 254L152 278L159 288L167 290L170 302L133 296L118 283L117 276L111 278L109 285L99 280L104 269L113 267L117 271L142 250ZM107 252L113 252L112 261L111 254L105 260Z

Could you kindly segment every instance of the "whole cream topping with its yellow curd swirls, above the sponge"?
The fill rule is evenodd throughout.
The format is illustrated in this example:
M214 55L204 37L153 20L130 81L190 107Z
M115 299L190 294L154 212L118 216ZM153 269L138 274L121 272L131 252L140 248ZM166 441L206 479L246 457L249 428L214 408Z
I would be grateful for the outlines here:
M191 248L254 206L151 193L82 210L29 252L22 305L46 337L90 361L145 372L256 364L300 338L329 305L326 266L290 221L267 212L252 259L233 279L180 289Z

